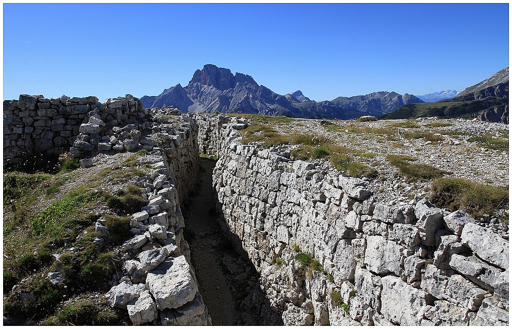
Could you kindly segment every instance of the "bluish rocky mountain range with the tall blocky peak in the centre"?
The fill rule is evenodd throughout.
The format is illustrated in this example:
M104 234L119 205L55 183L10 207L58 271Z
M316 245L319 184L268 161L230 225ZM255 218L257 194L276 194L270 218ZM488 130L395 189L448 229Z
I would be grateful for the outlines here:
M280 95L258 85L250 75L231 73L212 64L196 70L187 86L165 89L158 96L143 96L145 108L174 106L182 112L290 115L296 118L354 119L391 113L405 104L422 103L414 95L380 91L315 102L300 90Z

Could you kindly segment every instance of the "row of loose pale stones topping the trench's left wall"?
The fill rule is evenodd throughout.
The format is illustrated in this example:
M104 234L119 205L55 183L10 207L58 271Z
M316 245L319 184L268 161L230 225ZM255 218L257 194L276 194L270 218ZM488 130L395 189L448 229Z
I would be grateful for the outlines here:
M187 149L181 147L185 144L178 149ZM117 250L124 260L125 276L106 297L110 307L127 309L135 325L211 325L183 238L185 222L178 191L161 150L138 159L156 170L140 182L148 204L131 215L133 236ZM101 220L97 231L106 231Z

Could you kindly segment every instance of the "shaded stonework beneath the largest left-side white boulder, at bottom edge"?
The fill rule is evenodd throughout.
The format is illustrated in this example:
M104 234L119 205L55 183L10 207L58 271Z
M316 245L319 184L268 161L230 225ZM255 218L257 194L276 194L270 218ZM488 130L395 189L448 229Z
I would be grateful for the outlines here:
M160 312L160 320L162 325L212 325L212 319L199 293L183 306L164 309Z

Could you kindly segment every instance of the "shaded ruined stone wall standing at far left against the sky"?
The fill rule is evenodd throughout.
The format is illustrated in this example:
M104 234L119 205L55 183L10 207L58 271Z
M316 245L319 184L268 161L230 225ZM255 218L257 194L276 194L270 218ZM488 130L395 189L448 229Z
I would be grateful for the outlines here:
M144 122L146 115L142 103L129 94L103 104L94 96L47 99L22 94L18 100L4 101L4 163L16 163L26 154L60 154L71 146L76 156L96 150L99 143L105 150L106 132Z

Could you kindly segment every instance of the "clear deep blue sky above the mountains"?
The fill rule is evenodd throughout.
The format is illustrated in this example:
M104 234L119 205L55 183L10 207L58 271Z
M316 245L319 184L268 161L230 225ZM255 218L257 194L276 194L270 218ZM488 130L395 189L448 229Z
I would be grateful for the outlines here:
M508 4L4 4L4 99L158 95L215 64L317 101L461 90L508 66Z

